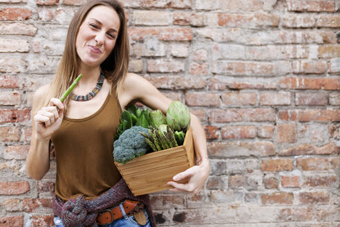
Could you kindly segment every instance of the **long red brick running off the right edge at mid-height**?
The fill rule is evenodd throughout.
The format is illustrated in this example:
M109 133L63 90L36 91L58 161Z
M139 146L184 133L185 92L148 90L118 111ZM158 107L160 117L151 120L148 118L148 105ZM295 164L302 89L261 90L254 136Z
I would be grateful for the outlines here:
M281 120L299 120L309 122L312 120L320 122L340 121L339 109L290 109L278 111Z

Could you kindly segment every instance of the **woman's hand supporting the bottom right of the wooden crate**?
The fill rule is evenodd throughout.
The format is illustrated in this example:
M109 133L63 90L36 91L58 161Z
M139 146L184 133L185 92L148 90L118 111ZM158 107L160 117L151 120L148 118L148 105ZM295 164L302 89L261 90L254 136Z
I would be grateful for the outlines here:
M173 186L169 189L171 192L190 192L193 194L198 194L200 189L207 181L210 172L209 159L202 159L200 165L195 165L185 172L180 172L176 176L173 176L173 181L169 181L167 185ZM188 178L188 183L177 183L182 179Z

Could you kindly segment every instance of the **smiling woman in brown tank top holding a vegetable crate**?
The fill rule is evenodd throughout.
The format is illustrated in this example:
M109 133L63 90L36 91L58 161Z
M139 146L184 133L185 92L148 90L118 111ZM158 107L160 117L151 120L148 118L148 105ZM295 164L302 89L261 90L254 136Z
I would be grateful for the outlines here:
M133 197L113 163L113 138L122 109L129 104L142 102L166 113L171 100L144 78L127 73L128 65L124 9L116 0L88 1L70 22L53 82L39 88L33 97L26 166L33 179L42 179L50 167L53 142L56 226L129 226L137 222L155 226L148 195ZM62 103L59 97L79 73L82 80ZM205 132L194 115L191 129L198 165L173 176L168 184L173 186L171 191L197 194L209 175L209 160ZM189 183L176 183L187 177ZM131 199L130 210L123 207L125 199ZM118 210L119 217L109 208Z

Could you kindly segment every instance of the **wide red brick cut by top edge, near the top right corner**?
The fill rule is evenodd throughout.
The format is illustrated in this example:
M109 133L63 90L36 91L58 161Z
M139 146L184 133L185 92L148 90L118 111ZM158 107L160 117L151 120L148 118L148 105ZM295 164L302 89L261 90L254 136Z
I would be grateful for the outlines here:
M288 11L334 12L334 1L298 1L287 0Z

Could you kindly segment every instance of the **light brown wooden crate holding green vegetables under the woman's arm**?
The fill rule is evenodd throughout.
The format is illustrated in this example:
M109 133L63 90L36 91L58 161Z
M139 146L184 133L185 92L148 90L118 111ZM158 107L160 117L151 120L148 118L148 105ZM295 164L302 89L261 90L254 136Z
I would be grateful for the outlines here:
M173 188L167 182L176 174L192 167L194 162L195 152L189 128L183 145L145 154L126 164L115 162L115 165L133 195L138 196ZM188 180L178 182L187 183Z

